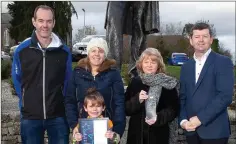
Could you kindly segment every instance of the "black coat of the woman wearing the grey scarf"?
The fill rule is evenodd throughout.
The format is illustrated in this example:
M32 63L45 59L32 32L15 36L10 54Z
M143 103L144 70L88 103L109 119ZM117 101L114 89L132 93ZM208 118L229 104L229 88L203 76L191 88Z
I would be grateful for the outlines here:
M168 123L179 114L177 90L162 88L156 108L157 121L151 126L145 122L145 101L139 102L141 90L148 92L149 86L143 84L140 77L135 77L125 93L125 111L130 116L127 144L168 144Z

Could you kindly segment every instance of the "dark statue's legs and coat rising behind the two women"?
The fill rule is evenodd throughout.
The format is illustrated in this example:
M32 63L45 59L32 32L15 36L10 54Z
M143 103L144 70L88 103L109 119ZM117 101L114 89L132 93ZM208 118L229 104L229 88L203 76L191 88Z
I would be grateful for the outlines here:
M147 48L146 36L160 31L158 1L109 1L105 18L108 57L121 69L123 34L131 35L128 73L136 75L135 63Z

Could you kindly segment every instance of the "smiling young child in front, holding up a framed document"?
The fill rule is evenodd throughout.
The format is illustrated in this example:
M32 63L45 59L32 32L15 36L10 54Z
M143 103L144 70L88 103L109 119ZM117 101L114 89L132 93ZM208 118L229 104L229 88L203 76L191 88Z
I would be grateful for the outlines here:
M84 98L84 110L88 113L88 118L103 118L102 112L105 110L105 102L103 96L96 90L96 88L89 88ZM113 123L108 121L109 130L105 137L109 139L109 143L118 144L120 141L119 134L113 132L111 129ZM79 125L73 130L73 144L82 140L82 135L79 133Z

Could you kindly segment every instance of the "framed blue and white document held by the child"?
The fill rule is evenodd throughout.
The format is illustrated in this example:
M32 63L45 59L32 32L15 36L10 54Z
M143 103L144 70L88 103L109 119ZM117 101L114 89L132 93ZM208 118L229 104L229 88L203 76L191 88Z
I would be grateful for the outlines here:
M108 118L79 119L79 132L82 134L80 144L108 144L108 139L105 137L108 120Z

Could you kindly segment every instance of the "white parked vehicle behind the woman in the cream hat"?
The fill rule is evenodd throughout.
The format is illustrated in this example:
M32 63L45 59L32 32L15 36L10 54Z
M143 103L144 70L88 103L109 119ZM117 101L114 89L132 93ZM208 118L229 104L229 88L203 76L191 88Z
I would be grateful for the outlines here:
M79 59L87 56L87 50L86 50L87 44L92 38L95 38L95 37L106 39L105 35L87 35L85 38L81 40L81 42L78 42L73 45L72 47L73 61L78 61Z

